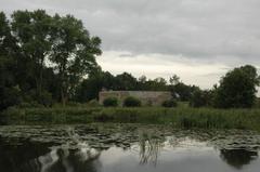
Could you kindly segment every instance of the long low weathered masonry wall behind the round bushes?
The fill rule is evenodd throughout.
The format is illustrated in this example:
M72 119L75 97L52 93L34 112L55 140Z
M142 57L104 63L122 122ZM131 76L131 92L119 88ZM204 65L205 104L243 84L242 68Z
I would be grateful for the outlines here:
M117 97L120 105L128 96L139 98L143 106L160 106L164 101L171 98L171 93L161 91L102 91L99 95L100 104L107 97Z

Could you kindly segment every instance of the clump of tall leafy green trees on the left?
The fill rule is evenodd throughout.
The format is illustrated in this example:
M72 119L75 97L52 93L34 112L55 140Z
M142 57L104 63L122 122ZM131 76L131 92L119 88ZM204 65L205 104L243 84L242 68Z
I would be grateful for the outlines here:
M72 15L15 11L8 21L1 12L2 107L17 104L8 96L16 85L21 90L17 97L25 104L37 102L49 107L61 100L76 100L76 88L83 77L100 68L95 62L100 44L101 39L91 37L82 22Z

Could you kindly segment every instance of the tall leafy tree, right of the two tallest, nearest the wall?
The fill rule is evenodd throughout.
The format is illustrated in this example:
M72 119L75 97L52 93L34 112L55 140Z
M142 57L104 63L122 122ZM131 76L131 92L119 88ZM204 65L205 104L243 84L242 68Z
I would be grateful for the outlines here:
M91 37L81 21L72 15L53 17L51 62L58 74L63 105L83 76L90 74L98 64L95 56L102 53L101 39Z

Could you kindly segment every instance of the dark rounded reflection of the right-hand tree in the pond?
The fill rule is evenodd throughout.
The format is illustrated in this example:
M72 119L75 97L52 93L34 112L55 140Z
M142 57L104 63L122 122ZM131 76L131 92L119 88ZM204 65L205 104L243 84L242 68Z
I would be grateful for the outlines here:
M252 160L258 158L258 151L240 149L221 149L220 157L227 164L242 169L243 166L249 164Z

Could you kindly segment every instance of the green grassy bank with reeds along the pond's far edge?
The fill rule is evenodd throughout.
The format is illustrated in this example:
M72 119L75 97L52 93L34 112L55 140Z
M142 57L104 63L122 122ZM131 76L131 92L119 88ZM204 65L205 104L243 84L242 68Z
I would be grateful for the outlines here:
M6 124L126 122L172 124L179 128L251 129L260 131L260 109L212 108L10 108L2 113Z

